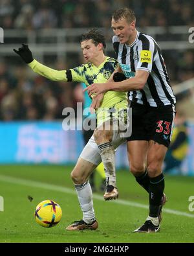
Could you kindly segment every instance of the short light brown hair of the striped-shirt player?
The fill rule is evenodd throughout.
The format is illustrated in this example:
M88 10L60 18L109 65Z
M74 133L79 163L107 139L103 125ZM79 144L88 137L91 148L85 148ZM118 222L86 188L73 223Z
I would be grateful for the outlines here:
M126 7L115 10L113 12L112 18L116 22L120 21L120 19L126 19L128 23L131 23L136 20L135 13L133 12L133 10Z

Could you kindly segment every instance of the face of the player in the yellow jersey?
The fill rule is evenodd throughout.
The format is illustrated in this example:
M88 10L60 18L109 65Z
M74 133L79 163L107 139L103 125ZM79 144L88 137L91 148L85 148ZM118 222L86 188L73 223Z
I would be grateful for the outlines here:
M81 42L81 50L83 51L83 58L86 62L92 62L99 54L99 45L94 45L93 41L86 40Z

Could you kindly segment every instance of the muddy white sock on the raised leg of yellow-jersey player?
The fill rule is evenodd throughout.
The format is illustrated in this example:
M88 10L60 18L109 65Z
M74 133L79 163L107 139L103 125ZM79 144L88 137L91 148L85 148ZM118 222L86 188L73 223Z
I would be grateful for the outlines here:
M109 180L109 185L116 187L116 170L115 170L115 152L111 143L98 145L100 156L103 161L105 176Z

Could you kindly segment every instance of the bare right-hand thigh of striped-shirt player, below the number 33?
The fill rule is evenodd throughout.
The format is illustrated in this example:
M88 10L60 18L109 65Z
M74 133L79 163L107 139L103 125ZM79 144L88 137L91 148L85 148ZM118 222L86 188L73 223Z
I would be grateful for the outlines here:
M155 177L162 172L162 165L166 156L167 146L149 141L149 149L147 152L147 169L149 176Z

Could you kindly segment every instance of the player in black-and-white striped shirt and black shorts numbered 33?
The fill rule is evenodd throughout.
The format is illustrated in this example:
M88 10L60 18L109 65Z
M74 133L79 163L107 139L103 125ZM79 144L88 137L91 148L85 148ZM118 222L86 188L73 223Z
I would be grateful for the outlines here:
M175 95L160 47L151 36L136 30L133 10L116 10L111 25L113 47L120 64L114 73L123 81L114 82L112 75L107 84L93 84L87 90L89 95L128 92L132 108L132 134L127 138L130 170L149 194L149 215L135 232L156 232L166 202L162 165L171 141Z

